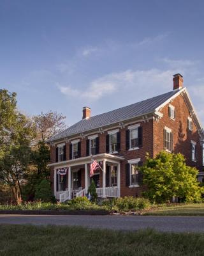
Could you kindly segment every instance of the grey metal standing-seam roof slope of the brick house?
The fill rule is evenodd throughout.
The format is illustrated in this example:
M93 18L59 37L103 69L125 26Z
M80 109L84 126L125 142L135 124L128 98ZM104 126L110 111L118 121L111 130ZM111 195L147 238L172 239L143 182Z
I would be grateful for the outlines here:
M82 132L91 131L105 125L114 124L134 118L136 116L142 116L146 113L154 113L155 109L163 104L166 100L170 99L178 91L171 91L152 97L150 99L142 100L135 104L118 108L100 115L91 116L89 119L82 119L76 124L71 125L68 129L59 132L47 142L66 138L74 134L80 134Z

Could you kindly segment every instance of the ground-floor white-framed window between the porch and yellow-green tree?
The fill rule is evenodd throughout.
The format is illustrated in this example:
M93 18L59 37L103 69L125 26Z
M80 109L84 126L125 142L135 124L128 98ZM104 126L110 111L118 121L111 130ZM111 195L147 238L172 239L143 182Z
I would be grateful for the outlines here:
M139 186L139 168L138 163L140 158L129 160L129 186L138 187Z

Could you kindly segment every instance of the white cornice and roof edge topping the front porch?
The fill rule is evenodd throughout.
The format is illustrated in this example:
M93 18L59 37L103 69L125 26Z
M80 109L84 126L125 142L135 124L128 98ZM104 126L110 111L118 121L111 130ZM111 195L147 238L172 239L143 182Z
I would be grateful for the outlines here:
M80 157L80 158L76 158L76 159L71 159L68 161L62 161L59 163L52 163L52 164L48 164L48 166L52 167L65 167L65 166L77 166L80 164L89 164L91 163L91 159L95 159L96 161L103 161L106 160L108 162L111 163L120 163L120 161L124 160L124 157L122 156L114 156L112 154L98 154L95 156L86 156L86 157Z

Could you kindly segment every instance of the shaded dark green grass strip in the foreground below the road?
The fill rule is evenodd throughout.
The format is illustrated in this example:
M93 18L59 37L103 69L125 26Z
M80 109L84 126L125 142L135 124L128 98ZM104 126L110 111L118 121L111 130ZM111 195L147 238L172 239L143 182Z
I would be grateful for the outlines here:
M0 255L203 256L204 234L0 225Z

